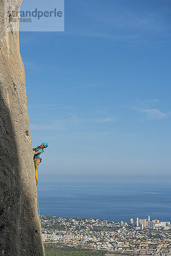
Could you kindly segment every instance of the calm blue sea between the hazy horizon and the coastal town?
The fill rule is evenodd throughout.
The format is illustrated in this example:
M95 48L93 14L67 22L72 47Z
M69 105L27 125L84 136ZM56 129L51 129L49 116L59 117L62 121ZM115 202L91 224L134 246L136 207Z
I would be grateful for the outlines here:
M169 183L43 183L38 185L38 198L41 215L124 222L150 215L171 221Z

